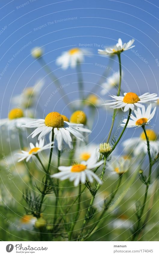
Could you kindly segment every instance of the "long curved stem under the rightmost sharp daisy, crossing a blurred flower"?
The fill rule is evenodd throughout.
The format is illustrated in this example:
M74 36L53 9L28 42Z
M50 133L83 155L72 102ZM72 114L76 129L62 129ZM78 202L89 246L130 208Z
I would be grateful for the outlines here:
M139 233L141 233L141 231L144 227L144 226L140 227L140 222L141 222L142 214L143 214L143 211L145 209L145 205L146 205L146 201L147 201L148 188L149 188L149 185L150 185L150 182L151 182L151 172L152 172L152 159L151 159L151 154L150 154L150 142L149 142L149 138L147 136L146 130L145 130L145 125L142 125L142 129L145 133L145 137L146 137L146 141L147 141L147 150L148 150L148 158L149 158L149 172L148 172L148 178L146 180L146 189L145 189L144 200L143 200L143 204L142 204L142 207L141 207L141 210L140 210L140 216L138 217L136 230L135 230L135 232L133 234L133 237L132 237L132 241L134 241L136 236L139 235Z

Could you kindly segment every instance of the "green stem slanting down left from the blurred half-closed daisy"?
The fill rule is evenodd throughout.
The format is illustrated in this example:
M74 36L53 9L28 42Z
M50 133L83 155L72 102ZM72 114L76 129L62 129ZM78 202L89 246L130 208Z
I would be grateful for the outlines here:
M115 195L116 195L118 189L120 188L122 176L123 176L123 175L120 175L120 176L119 176L119 181L118 181L118 184L117 184L117 186L116 186L116 188L115 188L115 191L113 191L113 193L112 193L112 195L111 195L111 198L110 198L109 202L107 203L107 206L108 206L108 207L105 207L105 209L102 211L101 215L99 216L99 220L95 223L95 225L94 225L93 228L90 230L90 232L89 232L82 240L85 241L87 238L89 238L89 237L93 234L94 229L95 229L95 228L98 228L99 223L100 223L100 221L102 220L102 218L103 218L105 212L109 209L109 204L112 202L112 200L114 199L114 197L115 197Z

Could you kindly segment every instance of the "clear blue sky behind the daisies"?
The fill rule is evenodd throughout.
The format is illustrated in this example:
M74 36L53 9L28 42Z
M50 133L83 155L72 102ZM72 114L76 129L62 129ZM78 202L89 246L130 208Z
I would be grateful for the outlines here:
M54 87L49 77L41 70L38 61L30 55L31 49L35 46L43 47L45 62L60 77L61 84L70 83L66 93L72 101L78 97L78 92L73 93L78 90L76 71L71 68L62 71L56 66L56 58L61 52L71 47L78 47L79 44L93 43L93 47L89 47L92 56L86 57L85 63L82 64L84 89L91 91L104 71L95 63L107 65L109 61L109 58L98 55L97 50L100 48L98 45L102 47L102 45L115 44L119 37L123 42L134 38L135 52L129 50L121 56L125 81L130 90L138 94L158 93L159 65L156 59L159 59L159 3L157 0L59 2L13 0L1 1L0 13L0 74L6 69L4 74L0 75L2 118L5 118L8 110L11 109L10 102L13 95L21 93L25 87L32 86L38 79L44 77L45 87L40 98L41 109L44 111L42 115L53 109L64 112L68 116L71 114L58 94L53 97L49 106L44 106ZM74 19L58 22L69 17ZM44 24L46 24L45 27L37 29ZM15 53L28 43L29 45L14 57ZM137 56L137 53L145 59L145 62ZM117 58L113 61L113 70L118 71ZM124 84L122 88L127 92ZM101 96L100 88L97 89L97 94ZM103 100L106 99L107 97L103 98ZM98 122L98 125L94 134L91 135L92 138L105 124L105 120L109 126L110 114L108 117L108 113L100 109L96 112L95 123ZM104 137L103 132L102 129L96 141ZM137 134L139 134L138 131ZM129 134L126 134L126 137L129 137Z

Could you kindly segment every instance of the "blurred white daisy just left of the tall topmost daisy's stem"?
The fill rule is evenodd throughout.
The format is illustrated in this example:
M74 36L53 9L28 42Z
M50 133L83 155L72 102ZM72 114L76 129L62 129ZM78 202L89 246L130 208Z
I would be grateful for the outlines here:
M123 72L122 72L123 76ZM101 94L105 95L106 93L109 92L114 87L117 87L119 84L119 79L120 79L120 73L116 72L112 76L107 78L107 82L102 84L103 89L101 90Z

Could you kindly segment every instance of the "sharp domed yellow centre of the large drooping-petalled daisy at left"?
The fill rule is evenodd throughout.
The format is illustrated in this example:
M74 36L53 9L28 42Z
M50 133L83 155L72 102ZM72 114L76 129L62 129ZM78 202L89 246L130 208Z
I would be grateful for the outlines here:
M58 112L51 112L45 117L45 125L53 128L63 127L63 117Z

